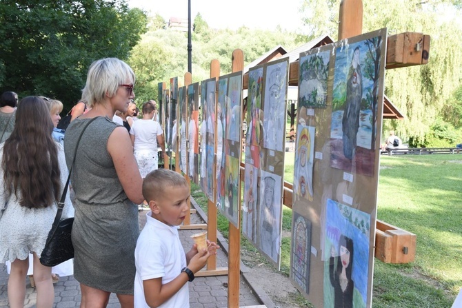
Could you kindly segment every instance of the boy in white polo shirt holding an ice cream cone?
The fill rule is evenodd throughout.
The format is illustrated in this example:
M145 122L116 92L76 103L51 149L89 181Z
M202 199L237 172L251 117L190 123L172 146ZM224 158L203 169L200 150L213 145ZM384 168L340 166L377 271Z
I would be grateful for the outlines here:
M143 181L143 196L151 209L134 251L137 272L134 281L134 307L190 307L188 281L217 254L217 244L208 249L197 245L185 254L178 227L190 210L190 189L177 172L158 169Z

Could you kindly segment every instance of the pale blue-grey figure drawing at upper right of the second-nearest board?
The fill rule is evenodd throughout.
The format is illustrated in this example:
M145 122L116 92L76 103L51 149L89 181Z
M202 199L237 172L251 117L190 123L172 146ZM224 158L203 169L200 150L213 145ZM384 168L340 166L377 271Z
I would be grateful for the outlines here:
M289 59L266 66L263 102L263 147L283 152L285 148L285 98Z

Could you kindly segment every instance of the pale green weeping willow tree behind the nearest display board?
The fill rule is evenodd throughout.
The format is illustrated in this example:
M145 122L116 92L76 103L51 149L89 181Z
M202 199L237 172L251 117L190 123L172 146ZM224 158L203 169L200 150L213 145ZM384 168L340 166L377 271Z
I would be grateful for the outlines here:
M337 37L340 0L305 0L302 12L310 34ZM363 32L388 28L388 35L423 32L432 37L427 65L388 70L385 94L405 115L403 121L384 122L401 136L422 139L439 118L440 112L459 87L462 72L461 1L363 1ZM448 31L451 29L451 31ZM386 129L384 129L386 131Z

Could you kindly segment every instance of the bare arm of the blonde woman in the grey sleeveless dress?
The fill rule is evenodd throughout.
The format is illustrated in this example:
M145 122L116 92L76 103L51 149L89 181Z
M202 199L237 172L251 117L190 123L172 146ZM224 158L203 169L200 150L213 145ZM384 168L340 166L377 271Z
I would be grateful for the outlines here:
M118 126L108 139L108 152L112 157L119 181L130 201L141 204L143 179L133 156L133 145L125 127Z

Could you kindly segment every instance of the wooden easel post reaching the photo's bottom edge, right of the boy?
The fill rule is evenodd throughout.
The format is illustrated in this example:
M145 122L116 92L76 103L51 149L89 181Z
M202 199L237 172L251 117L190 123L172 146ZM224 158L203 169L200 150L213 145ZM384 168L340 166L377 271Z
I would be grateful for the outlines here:
M240 72L244 69L244 54L242 50L237 49L232 52L232 72ZM241 119L243 121L243 117ZM242 125L241 125L242 126ZM239 203L241 202L241 189L238 190ZM238 210L241 207L238 205ZM230 225L230 251L228 254L228 307L234 308L239 307L239 283L241 278L241 231L239 228L234 227L232 223Z

